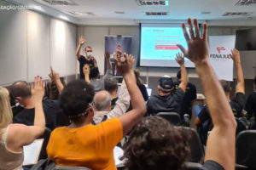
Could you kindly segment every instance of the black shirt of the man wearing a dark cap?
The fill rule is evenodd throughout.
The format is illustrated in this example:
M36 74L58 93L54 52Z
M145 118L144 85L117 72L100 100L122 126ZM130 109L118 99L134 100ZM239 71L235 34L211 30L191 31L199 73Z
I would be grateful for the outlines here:
M183 96L182 88L177 88L176 92L170 95L152 96L147 102L147 115L156 115L159 112L178 112Z

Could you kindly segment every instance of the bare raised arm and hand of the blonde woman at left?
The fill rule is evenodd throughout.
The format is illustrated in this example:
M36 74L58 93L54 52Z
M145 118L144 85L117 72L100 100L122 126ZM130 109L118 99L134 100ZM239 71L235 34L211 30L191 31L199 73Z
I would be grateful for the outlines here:
M22 148L24 145L31 144L44 133L45 118L42 105L44 86L42 77L35 77L35 82L31 85L32 100L35 105L34 126L14 124L10 130L10 143L15 145L12 148L18 150L18 148Z

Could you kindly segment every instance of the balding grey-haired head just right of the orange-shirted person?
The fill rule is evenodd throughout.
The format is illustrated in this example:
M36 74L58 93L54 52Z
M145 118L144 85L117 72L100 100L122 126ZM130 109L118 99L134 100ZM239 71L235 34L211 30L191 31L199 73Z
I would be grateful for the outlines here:
M100 91L93 98L96 111L110 111L111 95L107 91Z

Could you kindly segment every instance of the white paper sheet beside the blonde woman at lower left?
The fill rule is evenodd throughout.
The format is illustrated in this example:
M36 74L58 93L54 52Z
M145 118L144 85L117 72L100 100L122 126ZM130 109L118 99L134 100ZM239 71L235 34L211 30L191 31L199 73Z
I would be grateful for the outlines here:
M38 162L38 157L42 149L44 139L36 139L32 144L23 147L24 161L23 166L33 165Z

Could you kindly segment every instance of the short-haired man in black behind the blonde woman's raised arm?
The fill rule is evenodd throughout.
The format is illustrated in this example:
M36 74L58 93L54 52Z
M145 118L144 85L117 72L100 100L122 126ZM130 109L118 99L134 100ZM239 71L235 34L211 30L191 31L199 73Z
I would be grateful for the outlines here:
M53 74L53 70L51 69L50 77ZM55 82L58 90L60 91L60 86L63 88L61 80L57 75L54 74L55 79L58 82ZM54 80L55 81L55 80ZM53 82L54 82L53 81ZM35 103L32 99L31 89L27 82L25 81L18 81L12 84L10 87L10 95L12 98L16 99L20 106L24 109L20 112L16 113L14 117L15 123L21 123L27 126L32 126L34 123L34 116L35 116ZM58 100L53 99L43 99L43 109L44 109L44 116L46 121L46 127L53 130L57 127L56 116L57 114L61 114L61 108L59 107Z

